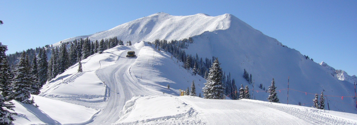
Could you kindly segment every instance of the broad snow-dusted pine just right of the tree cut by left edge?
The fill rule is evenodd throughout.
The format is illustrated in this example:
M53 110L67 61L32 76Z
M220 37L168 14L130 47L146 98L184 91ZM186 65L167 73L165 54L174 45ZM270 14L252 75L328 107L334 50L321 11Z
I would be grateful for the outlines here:
M13 71L14 77L12 79L13 96L14 99L21 103L30 103L31 80L30 63L25 51L22 52L20 61L16 64Z

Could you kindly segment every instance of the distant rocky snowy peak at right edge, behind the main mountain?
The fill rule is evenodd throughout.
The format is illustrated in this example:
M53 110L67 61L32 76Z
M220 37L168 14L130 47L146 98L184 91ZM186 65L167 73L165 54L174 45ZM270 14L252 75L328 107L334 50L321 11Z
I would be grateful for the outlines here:
M324 66L324 67L326 67L327 68L327 72L331 73L331 75L336 77L337 79L343 80L343 81L348 81L348 82L350 82L352 84L357 83L357 76L356 75L350 76L344 70L341 70L341 69L336 70L335 68L333 68L330 65L328 65L326 62L321 62L319 64Z

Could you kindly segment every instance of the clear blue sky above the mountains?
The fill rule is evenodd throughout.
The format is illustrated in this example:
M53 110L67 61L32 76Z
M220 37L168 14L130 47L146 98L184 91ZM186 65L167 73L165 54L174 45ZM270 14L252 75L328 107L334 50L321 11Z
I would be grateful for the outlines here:
M0 42L11 54L157 12L233 14L315 62L357 74L357 0L0 0Z

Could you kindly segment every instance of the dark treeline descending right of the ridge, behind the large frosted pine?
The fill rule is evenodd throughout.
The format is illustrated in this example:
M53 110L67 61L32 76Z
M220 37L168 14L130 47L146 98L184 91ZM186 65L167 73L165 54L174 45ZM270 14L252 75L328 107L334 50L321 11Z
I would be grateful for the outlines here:
M190 43L193 43L192 38L182 39L182 40L172 40L168 42L167 40L155 40L153 44L155 45L156 49L164 50L169 52L178 59L178 61L183 62L183 67L185 69L192 69L192 73L198 74L203 78L207 79L209 74L209 69L211 65L216 60L215 57L212 59L208 58L200 58L198 54L195 56L188 55L185 53L183 49L187 49ZM221 82L223 83L223 93L228 95L231 99L238 99L237 94L237 86L235 85L235 80L231 78L230 73L226 74L224 71L221 71Z

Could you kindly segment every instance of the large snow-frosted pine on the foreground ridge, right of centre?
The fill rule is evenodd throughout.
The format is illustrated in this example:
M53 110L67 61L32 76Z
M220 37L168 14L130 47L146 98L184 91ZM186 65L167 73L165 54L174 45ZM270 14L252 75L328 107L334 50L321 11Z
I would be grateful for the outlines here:
M218 58L214 60L209 69L207 82L204 83L203 96L205 99L224 99L224 87L222 83L222 68Z

